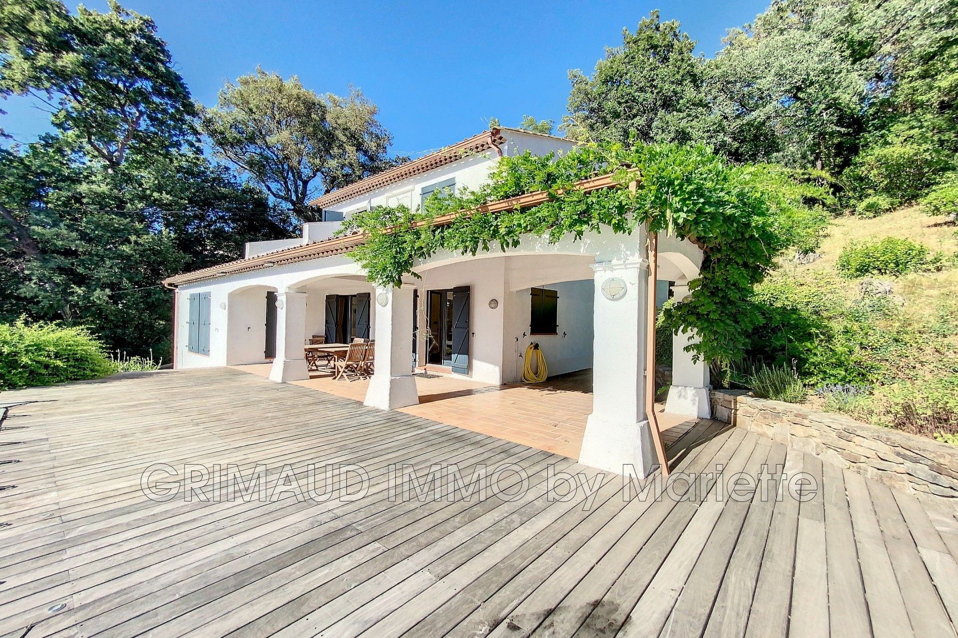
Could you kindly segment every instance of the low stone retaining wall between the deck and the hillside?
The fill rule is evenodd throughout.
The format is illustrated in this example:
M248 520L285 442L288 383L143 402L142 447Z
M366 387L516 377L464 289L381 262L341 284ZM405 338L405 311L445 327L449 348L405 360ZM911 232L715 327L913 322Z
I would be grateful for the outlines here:
M958 446L747 392L714 390L711 399L719 421L939 504L958 505Z

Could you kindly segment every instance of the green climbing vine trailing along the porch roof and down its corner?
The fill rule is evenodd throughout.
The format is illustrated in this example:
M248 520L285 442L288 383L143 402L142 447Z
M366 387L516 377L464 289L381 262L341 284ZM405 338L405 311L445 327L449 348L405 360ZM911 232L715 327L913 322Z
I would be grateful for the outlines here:
M588 193L575 188L609 173L623 186ZM625 185L636 176L633 192ZM459 214L444 226L424 223L537 190L551 198L535 208ZM745 334L760 319L749 303L753 286L783 250L817 245L829 203L824 188L785 168L731 165L702 146L594 144L560 155L503 157L477 190L435 193L419 210L356 213L342 232L368 232L351 256L371 281L396 285L439 251L505 250L526 234L550 242L586 232L627 234L648 223L651 231L688 239L704 253L692 294L665 310L664 325L673 332L696 329L696 354L727 362L741 357Z

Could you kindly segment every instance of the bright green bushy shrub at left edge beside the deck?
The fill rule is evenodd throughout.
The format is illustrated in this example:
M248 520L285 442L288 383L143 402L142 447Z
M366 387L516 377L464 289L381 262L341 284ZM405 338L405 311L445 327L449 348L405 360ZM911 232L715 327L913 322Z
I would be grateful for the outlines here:
M85 328L23 319L0 324L0 390L111 374L103 344Z

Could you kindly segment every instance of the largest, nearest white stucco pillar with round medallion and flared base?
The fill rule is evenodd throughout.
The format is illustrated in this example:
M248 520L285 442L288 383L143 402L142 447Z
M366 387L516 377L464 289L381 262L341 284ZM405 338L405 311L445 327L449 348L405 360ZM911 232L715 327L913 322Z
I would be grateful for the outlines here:
M595 271L592 414L585 425L579 460L624 473L630 464L646 476L655 448L645 409L645 259L597 263Z

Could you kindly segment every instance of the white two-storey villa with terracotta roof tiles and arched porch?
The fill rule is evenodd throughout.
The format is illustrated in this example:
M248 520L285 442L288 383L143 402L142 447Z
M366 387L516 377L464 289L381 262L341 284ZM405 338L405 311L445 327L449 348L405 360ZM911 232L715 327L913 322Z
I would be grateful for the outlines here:
M485 131L316 199L324 221L305 224L302 237L249 243L243 259L167 279L175 291L175 367L271 362L272 380L302 380L308 338L371 338L375 372L365 403L395 409L417 403L417 371L518 382L535 341L550 375L592 368L580 460L649 473L656 461L645 397L648 286L660 297L670 287L673 297L688 295L702 258L692 243L659 237L656 281L646 233L608 231L558 244L529 236L515 249L475 256L440 253L416 264L419 278L376 288L347 255L361 235L332 237L356 211L415 209L437 188L479 187L499 157L573 146L523 130ZM684 351L689 339L673 339L667 409L707 417L708 367Z

